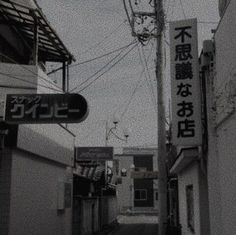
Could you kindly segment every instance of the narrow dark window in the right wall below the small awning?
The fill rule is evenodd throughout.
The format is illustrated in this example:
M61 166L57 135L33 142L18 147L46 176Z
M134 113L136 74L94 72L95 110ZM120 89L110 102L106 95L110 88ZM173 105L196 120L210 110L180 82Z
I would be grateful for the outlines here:
M187 224L188 228L194 232L194 200L193 185L186 186L186 204L187 204Z

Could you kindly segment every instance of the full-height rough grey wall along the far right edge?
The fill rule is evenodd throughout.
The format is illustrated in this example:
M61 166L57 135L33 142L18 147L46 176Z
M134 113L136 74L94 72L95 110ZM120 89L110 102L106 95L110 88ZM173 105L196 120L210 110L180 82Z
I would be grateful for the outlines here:
M216 100L215 145L209 151L208 184L211 234L236 231L236 114L230 80L236 79L236 1L230 1L215 34L216 73L213 91Z

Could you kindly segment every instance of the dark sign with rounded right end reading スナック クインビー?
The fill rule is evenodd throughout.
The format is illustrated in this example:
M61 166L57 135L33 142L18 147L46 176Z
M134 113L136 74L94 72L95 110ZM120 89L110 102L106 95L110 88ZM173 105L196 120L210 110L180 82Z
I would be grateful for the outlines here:
M78 123L88 115L88 104L79 94L8 94L8 123Z

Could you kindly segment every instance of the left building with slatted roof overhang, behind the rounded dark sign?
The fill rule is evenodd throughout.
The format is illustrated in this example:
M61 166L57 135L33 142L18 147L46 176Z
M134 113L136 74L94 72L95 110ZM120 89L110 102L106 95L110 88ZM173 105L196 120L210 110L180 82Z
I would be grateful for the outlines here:
M1 1L0 9L1 96L61 93L46 62L73 56L37 3ZM71 234L75 135L59 124L8 124L2 114L0 234Z

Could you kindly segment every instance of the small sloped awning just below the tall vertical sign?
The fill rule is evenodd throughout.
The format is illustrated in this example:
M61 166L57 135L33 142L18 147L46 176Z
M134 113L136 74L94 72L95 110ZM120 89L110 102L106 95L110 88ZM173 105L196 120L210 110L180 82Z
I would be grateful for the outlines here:
M183 148L170 169L170 174L178 174L199 157L198 148Z

